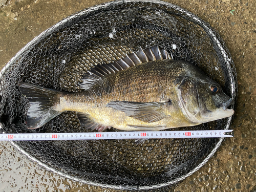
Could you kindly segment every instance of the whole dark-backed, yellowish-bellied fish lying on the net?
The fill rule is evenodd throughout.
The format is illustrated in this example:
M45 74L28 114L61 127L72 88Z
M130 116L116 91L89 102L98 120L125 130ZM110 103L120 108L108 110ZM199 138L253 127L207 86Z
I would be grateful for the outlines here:
M20 82L30 107L26 123L37 129L66 111L80 124L103 132L159 131L232 116L234 104L220 84L196 65L175 60L158 46L126 54L82 76L79 92L61 92Z

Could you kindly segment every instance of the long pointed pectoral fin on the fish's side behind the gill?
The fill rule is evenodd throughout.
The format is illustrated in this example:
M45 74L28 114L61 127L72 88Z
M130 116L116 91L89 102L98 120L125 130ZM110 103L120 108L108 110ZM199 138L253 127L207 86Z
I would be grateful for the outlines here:
M167 116L162 110L164 105L165 103L160 102L111 101L106 106L122 111L126 116L151 123Z

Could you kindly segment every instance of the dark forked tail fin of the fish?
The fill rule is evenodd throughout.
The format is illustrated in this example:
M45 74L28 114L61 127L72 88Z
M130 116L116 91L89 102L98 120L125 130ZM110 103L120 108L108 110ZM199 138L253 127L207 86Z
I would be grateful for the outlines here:
M59 103L60 91L34 86L30 83L19 84L20 91L30 103L26 123L29 129L36 129L61 114L54 110L54 105Z

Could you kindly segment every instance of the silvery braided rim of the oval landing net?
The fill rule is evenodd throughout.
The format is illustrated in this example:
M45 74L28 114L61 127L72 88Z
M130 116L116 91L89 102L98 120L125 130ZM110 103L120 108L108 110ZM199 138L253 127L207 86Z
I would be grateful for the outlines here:
M58 22L57 24L53 25L52 27L48 28L47 30L45 30L44 32L40 33L38 36L36 36L34 39L32 39L30 42L28 42L28 44L23 47L21 50L19 50L17 52L17 54L11 58L11 60L4 66L4 68L1 70L0 72L0 81L2 80L3 75L5 74L5 72L8 70L8 68L13 64L13 62L20 56L22 55L25 51L29 50L29 47L36 43L37 41L40 40L40 38L43 38L44 36L48 35L51 32L54 32L55 30L57 30L59 27L66 25L67 22L70 22L72 19L75 19L79 16L82 16L84 14L89 14L89 13L93 13L93 12L97 12L100 9L106 9L109 6L113 6L113 5L119 5L119 4L127 4L127 3L152 3L152 4L160 4L162 6L167 6L169 8L174 8L176 10L182 11L183 14L185 14L188 18L191 19L191 21L193 21L194 23L197 24L201 24L200 26L204 29L204 31L207 32L208 35L211 35L212 40L214 40L218 46L218 48L221 50L221 54L224 55L228 55L225 51L225 47L222 45L224 44L224 42L219 41L219 39L216 37L216 35L212 32L212 30L210 29L209 26L206 25L206 23L199 17L197 17L195 14L190 13L189 11L173 5L171 3L167 3L167 2L162 2L159 0L121 0L121 1L113 1L113 2L108 2L108 3L103 3L103 4L99 4L99 5L95 5L93 7L84 9L82 11L79 11L77 13L74 13L62 20L60 20L60 22ZM182 15L180 15L182 16ZM186 19L188 19L186 18ZM225 57L224 57L225 58ZM234 76L232 74L232 69L230 68L230 64L232 63L232 59L225 58L225 62L227 63L228 66L228 70L229 70L229 74L230 75L230 81L233 81ZM231 86L231 95L232 98L236 98L236 87L235 86ZM233 107L232 107L233 108ZM228 118L228 123L226 125L226 127L224 128L224 130L228 130L230 123L231 123L232 117ZM1 127L1 124L0 124ZM28 159L30 159L31 161L36 162L38 165L40 165L41 167L44 167L47 170L50 170L51 172L58 174L62 177L68 178L68 179L72 179L74 181L78 181L84 184L89 184L89 185L95 185L95 186L100 186L100 187L104 187L104 188L113 188L113 189L121 189L121 190L145 190L145 189L155 189L155 188L161 188L161 187L165 187L174 183L177 183L181 180L184 180L186 177L192 175L193 173L195 173L198 169L200 169L203 165L205 165L208 160L216 153L216 151L218 150L218 148L220 147L222 141L224 140L224 138L220 138L219 142L216 144L216 146L212 149L212 151L210 152L210 154L197 166L195 167L193 170L191 170L189 173L187 173L186 175L177 178L174 181L170 181L170 182L166 182L166 183L161 183L161 184L157 184L157 185L144 185L144 186L122 186L122 185L114 185L114 184L102 184L102 183L97 183L97 182L92 182L92 181L87 181L87 180L83 180L77 177L73 177L69 174L60 172L59 170L57 170L56 168L47 165L46 163L43 163L41 160L33 157L32 155L30 155L28 152L26 152L22 147L20 147L18 144L16 144L13 141L9 141L9 143L11 145L13 145L20 153L24 154L25 156L27 156Z

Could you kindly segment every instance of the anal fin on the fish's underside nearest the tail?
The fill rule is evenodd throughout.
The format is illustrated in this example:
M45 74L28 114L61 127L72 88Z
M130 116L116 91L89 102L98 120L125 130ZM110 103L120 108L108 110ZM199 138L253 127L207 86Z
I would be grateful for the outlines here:
M99 132L103 132L106 129L110 129L111 126L105 126L96 122L93 122L90 117L85 113L78 112L78 119L82 126L86 127L87 130L97 130Z

